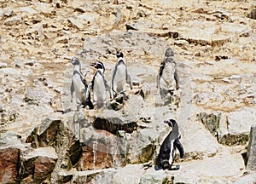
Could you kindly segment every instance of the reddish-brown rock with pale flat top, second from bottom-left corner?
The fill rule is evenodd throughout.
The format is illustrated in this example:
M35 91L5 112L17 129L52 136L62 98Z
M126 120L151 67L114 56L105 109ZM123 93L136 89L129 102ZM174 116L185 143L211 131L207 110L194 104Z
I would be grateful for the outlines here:
M39 147L21 158L21 183L42 183L55 168L57 154L53 147Z

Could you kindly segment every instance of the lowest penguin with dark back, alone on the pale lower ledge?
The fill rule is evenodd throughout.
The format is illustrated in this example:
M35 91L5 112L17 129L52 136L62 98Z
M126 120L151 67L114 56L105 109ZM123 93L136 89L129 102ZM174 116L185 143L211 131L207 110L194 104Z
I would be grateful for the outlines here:
M183 145L179 141L181 136L178 131L177 122L174 119L169 119L164 121L164 123L172 127L172 131L166 136L165 141L163 141L162 145L160 146L160 153L156 163L156 169L175 170L172 168L172 164L176 148L179 151L180 158L183 158L184 156ZM178 167L176 169L178 170Z

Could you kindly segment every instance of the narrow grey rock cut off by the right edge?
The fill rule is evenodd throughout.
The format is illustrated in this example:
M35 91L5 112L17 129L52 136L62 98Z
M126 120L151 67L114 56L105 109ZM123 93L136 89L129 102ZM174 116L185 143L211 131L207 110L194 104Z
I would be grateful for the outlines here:
M256 126L251 127L249 144L247 148L247 169L256 170Z

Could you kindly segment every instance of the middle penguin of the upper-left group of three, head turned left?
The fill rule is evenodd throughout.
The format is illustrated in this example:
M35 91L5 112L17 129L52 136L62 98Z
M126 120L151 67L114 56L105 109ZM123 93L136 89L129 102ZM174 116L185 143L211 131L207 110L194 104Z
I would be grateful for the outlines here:
M105 66L101 61L96 61L93 65L97 71L86 91L86 99L90 99L90 91L93 91L93 106L97 109L106 106L107 104L107 90L110 94L110 88L106 79L104 78Z

